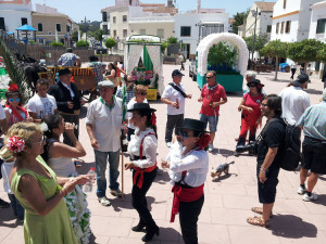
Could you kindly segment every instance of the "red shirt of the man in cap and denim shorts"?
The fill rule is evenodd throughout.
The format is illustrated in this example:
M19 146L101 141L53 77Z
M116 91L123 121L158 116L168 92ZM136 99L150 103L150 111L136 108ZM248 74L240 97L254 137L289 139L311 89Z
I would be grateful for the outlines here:
M216 116L218 115L220 106L212 107L210 106L211 102L220 102L222 99L226 100L226 93L224 87L217 85L213 90L208 89L208 85L205 84L201 90L202 105L200 113L208 116L214 116L214 110L216 112Z

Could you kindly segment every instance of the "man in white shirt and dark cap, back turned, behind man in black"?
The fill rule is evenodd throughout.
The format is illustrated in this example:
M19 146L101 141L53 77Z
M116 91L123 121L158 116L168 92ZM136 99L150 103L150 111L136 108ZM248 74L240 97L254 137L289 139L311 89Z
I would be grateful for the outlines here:
M309 94L303 91L308 82L309 76L306 74L299 75L297 80L279 93L281 97L281 117L290 125L297 125L304 111L310 106Z

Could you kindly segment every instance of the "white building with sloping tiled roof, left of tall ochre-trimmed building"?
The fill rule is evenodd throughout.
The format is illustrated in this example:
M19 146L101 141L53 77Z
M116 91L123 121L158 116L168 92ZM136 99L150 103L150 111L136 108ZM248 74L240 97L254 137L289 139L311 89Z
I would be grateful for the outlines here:
M241 36L250 37L254 34L256 36L267 36L271 39L272 31L272 16L275 2L254 2L249 11ZM255 13L258 12L258 15ZM256 16L256 17L255 17Z

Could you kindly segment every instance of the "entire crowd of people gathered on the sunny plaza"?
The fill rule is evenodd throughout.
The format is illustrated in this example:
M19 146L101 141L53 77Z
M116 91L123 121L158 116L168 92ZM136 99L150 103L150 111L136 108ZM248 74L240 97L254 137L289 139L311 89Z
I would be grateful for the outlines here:
M68 51L59 62L71 65L79 60ZM147 203L147 193L159 166L155 110L146 99L147 87L136 86L131 75L115 64L110 64L110 74L105 74L97 57L89 60L89 66L97 70L99 98L88 105L85 123L95 153L98 202L102 206L111 205L106 195L108 163L110 193L123 197L118 165L121 136L126 133L129 160L124 168L133 170L131 205L139 216L138 224L131 230L145 232L142 241L149 242L160 234L155 216ZM124 75L126 78L122 79ZM209 153L214 150L220 106L228 99L216 73L210 70L197 99L201 103L199 117L185 118L186 99L192 99L192 94L186 92L183 76L180 70L173 70L172 82L161 97L166 104L164 140L170 152L160 166L170 170L173 185L171 222L178 214L184 242L190 244L198 243L197 223L204 204ZM78 157L86 155L78 141L79 114L85 100L71 78L71 70L62 68L55 85L49 86L48 80L39 79L37 93L26 107L17 86L11 85L5 93L4 110L0 106L0 126L5 134L0 151L4 162L1 166L4 190L17 221L24 222L25 243L88 243L92 233L90 210L83 191L83 184L92 179L88 175L78 176L76 171L77 163L83 163ZM309 79L305 74L299 75L277 95L265 93L255 73L249 72L246 76L246 89L238 106L241 125L236 147L246 145L248 131L249 143L258 143L255 175L262 204L262 207L251 209L261 217L248 218L250 224L269 227L287 125L303 129L304 134L298 194L303 195L303 201L317 200L313 189L318 176L326 174L323 156L326 150L326 89L321 103L311 105L304 91ZM256 141L263 117L267 123ZM62 134L63 142L60 141ZM1 207L9 207L0 201Z

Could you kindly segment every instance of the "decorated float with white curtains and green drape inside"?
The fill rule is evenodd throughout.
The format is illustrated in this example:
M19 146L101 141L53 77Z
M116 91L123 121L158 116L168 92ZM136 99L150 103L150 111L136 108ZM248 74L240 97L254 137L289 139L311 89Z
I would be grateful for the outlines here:
M125 69L133 74L136 84L148 87L148 100L156 100L164 90L163 56L161 38L148 35L134 35L126 39Z

